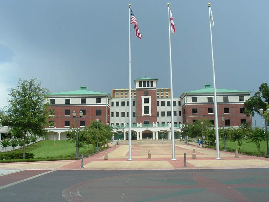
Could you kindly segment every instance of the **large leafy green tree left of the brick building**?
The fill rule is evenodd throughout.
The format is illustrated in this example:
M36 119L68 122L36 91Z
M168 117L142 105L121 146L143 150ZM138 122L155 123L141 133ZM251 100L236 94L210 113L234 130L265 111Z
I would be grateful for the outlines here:
M48 125L48 93L49 90L42 88L37 78L31 78L19 79L17 87L12 88L9 94L9 105L5 107L7 122L12 135L23 139L23 159L27 134L46 136L44 126Z

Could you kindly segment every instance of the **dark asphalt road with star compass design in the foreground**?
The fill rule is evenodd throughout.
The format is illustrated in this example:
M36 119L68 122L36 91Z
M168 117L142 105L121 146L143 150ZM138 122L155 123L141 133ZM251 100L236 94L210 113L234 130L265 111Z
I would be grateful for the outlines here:
M34 177L31 172L1 176L0 182ZM1 202L260 202L269 199L269 169L53 171L9 185L0 186Z

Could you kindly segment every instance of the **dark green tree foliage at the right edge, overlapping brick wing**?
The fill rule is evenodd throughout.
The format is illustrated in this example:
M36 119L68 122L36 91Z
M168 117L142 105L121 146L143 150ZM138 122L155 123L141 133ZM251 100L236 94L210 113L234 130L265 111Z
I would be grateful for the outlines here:
M244 113L247 116L254 116L255 112L259 114L259 109L266 110L269 105L269 87L267 83L262 83L259 91L255 92L252 97L244 102ZM269 122L269 117L267 123ZM268 123L269 124L269 123Z

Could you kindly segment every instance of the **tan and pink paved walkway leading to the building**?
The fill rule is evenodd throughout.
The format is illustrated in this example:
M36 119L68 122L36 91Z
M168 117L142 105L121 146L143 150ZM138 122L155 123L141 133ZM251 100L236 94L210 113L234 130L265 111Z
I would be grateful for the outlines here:
M194 145L175 145L172 158L172 145L132 145L132 161L128 161L128 145L113 145L110 148L81 160L1 163L0 175L16 170L175 170L175 169L230 169L230 168L269 168L269 158L246 156L234 158L234 153L220 151L221 160L216 160L216 150ZM147 159L148 150L151 159ZM192 158L195 149L196 159ZM105 152L108 160L104 160ZM187 154L187 167L184 167L184 153Z

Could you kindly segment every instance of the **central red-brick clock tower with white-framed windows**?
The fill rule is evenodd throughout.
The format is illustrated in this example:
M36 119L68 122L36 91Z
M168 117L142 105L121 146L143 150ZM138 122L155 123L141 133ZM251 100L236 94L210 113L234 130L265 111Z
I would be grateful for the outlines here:
M157 122L157 78L135 79L136 85L136 120L142 124Z

